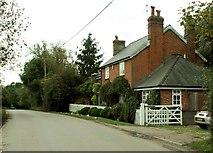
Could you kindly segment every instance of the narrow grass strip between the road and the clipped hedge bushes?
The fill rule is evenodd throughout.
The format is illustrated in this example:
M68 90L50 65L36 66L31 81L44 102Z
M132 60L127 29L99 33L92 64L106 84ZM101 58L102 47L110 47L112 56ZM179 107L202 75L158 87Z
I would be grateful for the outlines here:
M102 123L108 123L108 124L112 124L112 125L127 125L127 126L133 126L134 124L131 123L127 123L127 122L121 122L121 121L116 121L116 120L111 120L108 118L102 118L102 117L94 117L94 116L86 116L86 115L80 115L80 114L74 114L74 113L59 113L62 115L68 115L68 116L73 116L73 117L77 117L77 118L82 118L82 119L86 119L86 120L93 120L96 122L102 122Z

